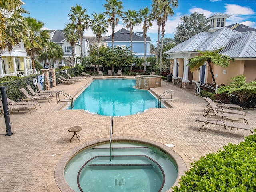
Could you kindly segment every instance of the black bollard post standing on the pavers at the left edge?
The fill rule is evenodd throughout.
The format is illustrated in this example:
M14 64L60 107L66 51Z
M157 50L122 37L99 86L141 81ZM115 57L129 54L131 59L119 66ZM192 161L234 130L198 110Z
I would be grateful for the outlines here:
M11 122L10 122L10 114L9 114L9 108L8 108L8 102L7 102L7 95L6 95L6 88L1 87L1 96L2 96L2 103L4 108L4 120L5 120L5 126L6 126L6 135L10 136L12 135L12 129L11 129Z

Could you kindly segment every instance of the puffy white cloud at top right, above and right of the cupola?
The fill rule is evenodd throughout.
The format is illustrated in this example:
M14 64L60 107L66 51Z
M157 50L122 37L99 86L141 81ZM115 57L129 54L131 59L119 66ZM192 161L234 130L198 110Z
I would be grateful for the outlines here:
M242 7L235 4L226 4L225 8L226 8L226 14L229 14L232 16L255 14L255 12L251 8Z

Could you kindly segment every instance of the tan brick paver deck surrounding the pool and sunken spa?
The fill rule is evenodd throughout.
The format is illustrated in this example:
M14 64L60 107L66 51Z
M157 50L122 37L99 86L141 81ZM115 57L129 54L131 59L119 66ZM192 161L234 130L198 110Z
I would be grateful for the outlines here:
M98 77L97 77L98 78ZM102 78L102 77L101 77ZM58 85L51 90L62 90L76 97L92 77L72 85ZM228 143L244 141L249 131L223 130L219 126L194 122L204 114L206 101L196 96L195 90L182 90L162 81L152 88L160 95L167 89L175 91L173 108L152 108L142 114L114 118L114 136L145 138L164 145L174 144L189 168L201 156L217 152ZM111 118L97 116L83 110L62 110L64 103L40 102L42 108L10 115L12 136L5 136L4 116L0 117L0 191L1 192L56 192L54 171L59 160L74 147L97 138L109 137ZM246 110L249 125L256 128L256 111ZM80 126L80 143L72 142L68 128Z

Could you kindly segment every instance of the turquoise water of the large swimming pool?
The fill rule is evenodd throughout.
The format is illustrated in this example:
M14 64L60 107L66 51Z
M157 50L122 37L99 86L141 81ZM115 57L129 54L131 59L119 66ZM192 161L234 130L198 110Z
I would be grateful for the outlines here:
M158 100L148 90L134 86L134 79L94 80L74 101L73 109L104 116L126 116L158 108Z

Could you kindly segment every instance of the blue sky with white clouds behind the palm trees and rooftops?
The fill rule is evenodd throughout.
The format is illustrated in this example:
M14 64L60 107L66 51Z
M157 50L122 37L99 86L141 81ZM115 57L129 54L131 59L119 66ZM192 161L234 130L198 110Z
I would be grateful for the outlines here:
M124 11L128 9L140 10L141 8L151 8L151 0L121 0L123 2ZM25 5L24 9L30 12L29 16L36 18L45 23L47 29L63 30L65 24L70 22L68 14L70 13L71 6L76 4L86 8L87 14L92 16L92 13L104 12L105 0L23 0ZM221 12L224 14L232 15L226 20L226 25L240 23L247 26L256 28L256 0L179 0L178 8L174 8L174 15L168 18L165 29L165 38L173 38L176 26L180 23L180 17L189 15L192 12L202 12L208 18L209 16ZM125 28L122 24L122 19L115 31ZM134 28L136 32L142 32L142 26ZM109 28L108 34L111 34ZM152 44L157 41L158 26L153 22L152 28L148 30ZM84 33L84 36L93 36L90 29Z

